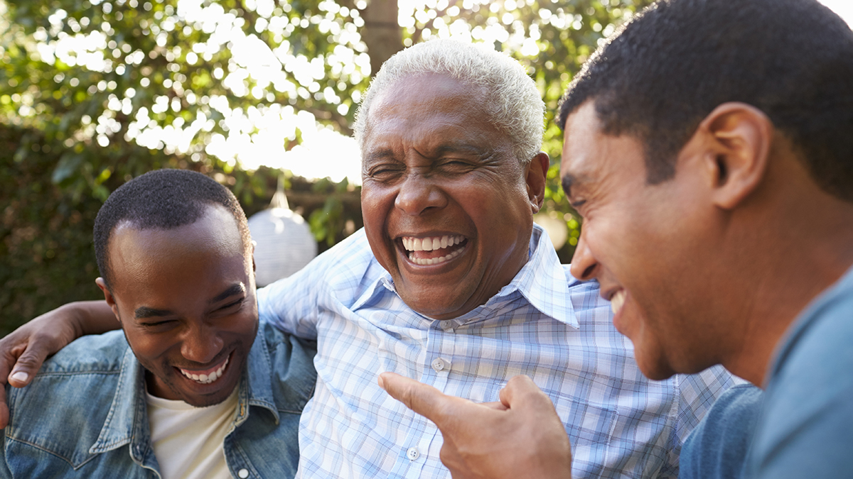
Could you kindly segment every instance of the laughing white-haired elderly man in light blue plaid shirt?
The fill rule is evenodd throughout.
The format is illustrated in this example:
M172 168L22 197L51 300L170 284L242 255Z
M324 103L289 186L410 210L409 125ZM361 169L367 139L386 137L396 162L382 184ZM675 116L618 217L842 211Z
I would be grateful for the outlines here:
M450 476L441 433L380 389L386 371L478 402L526 374L566 426L577 477L677 476L733 379L647 380L598 284L560 264L533 224L543 112L517 61L472 44L421 43L377 73L355 125L363 230L258 291L262 322L318 342L299 476Z

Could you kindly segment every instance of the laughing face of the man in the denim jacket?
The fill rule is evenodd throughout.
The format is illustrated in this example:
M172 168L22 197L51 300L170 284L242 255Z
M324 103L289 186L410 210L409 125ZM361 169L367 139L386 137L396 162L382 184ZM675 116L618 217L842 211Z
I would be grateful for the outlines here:
M120 223L109 255L112 293L98 286L147 370L148 392L196 407L227 399L258 331L252 259L234 216L217 205L168 230Z

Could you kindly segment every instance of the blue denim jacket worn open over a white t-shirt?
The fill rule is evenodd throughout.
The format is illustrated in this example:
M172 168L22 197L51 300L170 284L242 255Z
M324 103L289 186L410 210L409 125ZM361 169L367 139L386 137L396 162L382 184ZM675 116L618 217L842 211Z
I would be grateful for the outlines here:
M225 459L239 479L293 477L315 346L260 325L240 382ZM0 477L160 478L144 370L120 331L80 338L26 388L7 386Z

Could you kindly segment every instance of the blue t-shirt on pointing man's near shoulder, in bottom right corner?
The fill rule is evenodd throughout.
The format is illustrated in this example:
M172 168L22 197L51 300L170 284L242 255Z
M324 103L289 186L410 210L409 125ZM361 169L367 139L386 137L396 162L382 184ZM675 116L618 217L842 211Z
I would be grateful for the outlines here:
M775 357L750 476L853 476L853 268L809 304Z

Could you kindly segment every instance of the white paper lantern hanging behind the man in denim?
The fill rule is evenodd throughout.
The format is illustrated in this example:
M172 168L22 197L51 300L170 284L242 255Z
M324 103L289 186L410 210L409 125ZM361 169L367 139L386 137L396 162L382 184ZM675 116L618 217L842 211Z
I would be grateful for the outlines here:
M255 242L255 281L267 286L299 271L317 255L314 235L302 216L290 211L279 183L270 208L249 218Z

